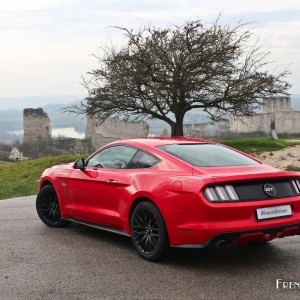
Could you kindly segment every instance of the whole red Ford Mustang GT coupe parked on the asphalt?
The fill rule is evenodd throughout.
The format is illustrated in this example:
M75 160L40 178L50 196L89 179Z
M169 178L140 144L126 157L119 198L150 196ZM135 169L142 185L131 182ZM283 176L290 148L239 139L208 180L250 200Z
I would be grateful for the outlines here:
M229 147L188 138L113 142L42 174L36 208L131 236L147 260L173 247L246 245L300 234L300 173Z

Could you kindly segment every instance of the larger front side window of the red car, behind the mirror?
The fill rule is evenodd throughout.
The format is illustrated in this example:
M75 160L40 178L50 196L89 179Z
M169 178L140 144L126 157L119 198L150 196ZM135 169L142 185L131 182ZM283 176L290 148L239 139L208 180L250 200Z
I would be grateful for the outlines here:
M138 150L127 146L113 146L96 153L87 162L87 167L126 169Z

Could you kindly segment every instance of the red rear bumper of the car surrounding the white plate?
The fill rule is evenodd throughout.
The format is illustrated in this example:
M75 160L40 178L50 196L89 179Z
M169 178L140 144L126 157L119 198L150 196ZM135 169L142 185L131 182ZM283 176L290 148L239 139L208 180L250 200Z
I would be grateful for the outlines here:
M290 205L292 215L258 220L257 209ZM300 234L300 197L239 203L198 199L183 211L165 211L171 246L245 245Z

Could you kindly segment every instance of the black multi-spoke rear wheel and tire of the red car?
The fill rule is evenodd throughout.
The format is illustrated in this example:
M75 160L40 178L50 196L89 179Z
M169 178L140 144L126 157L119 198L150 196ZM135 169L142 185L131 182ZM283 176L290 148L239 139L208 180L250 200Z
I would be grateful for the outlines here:
M143 259L161 259L169 246L164 219L157 207L149 202L139 203L131 217L131 239Z

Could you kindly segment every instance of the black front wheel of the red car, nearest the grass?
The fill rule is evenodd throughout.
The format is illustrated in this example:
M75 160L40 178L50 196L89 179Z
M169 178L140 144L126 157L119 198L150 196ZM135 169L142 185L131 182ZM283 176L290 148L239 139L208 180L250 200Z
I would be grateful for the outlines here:
M40 219L50 227L65 227L71 223L62 219L57 195L52 185L44 186L38 193L36 211Z

